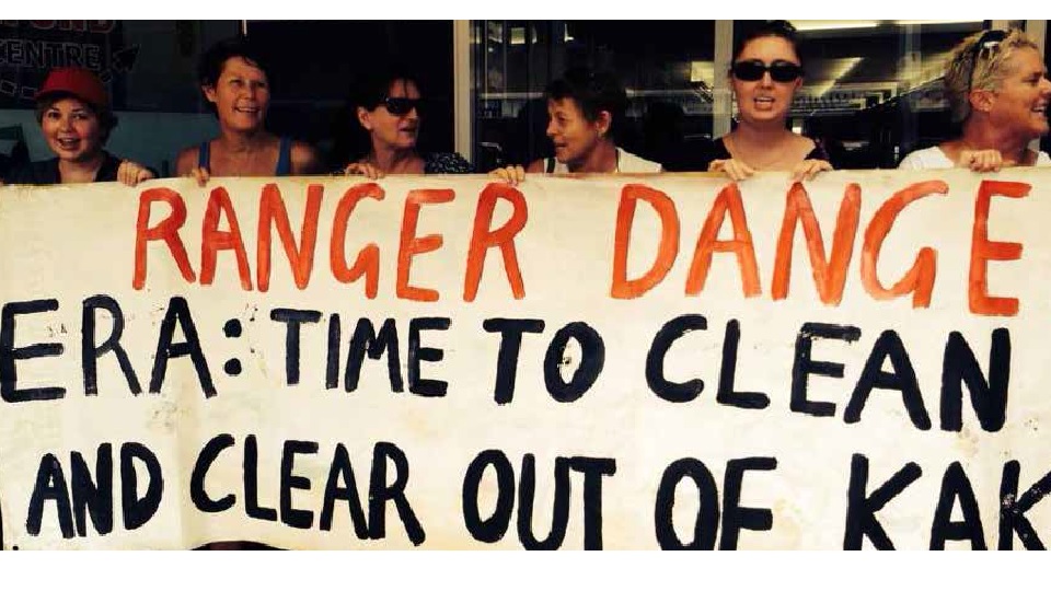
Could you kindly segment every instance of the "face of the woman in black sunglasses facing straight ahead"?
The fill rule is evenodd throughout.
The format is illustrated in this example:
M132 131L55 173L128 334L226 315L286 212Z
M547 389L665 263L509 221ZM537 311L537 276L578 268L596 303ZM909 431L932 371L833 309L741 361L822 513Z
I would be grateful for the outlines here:
M766 67L777 62L799 66L799 56L787 39L767 36L748 42L734 60L735 63L742 61L762 62ZM770 72L764 72L755 81L739 80L737 77L731 77L731 81L740 120L746 123L784 121L796 90L802 85L801 78L792 82L776 82Z

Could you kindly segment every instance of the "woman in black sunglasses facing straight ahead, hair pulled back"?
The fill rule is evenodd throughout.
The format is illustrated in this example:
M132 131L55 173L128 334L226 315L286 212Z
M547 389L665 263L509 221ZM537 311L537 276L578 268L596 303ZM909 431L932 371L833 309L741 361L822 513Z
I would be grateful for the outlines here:
M669 169L723 172L742 181L759 171L789 171L793 179L832 169L824 149L787 128L788 112L802 85L795 27L786 21L759 24L738 43L730 68L738 124L690 161Z

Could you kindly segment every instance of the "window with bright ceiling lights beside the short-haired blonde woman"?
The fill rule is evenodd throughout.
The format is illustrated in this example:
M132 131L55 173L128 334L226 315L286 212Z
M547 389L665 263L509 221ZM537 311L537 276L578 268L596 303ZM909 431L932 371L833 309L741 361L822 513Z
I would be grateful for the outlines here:
M945 61L983 21L793 21L807 78L789 125L841 169L890 169L952 132ZM735 26L735 36L740 26Z

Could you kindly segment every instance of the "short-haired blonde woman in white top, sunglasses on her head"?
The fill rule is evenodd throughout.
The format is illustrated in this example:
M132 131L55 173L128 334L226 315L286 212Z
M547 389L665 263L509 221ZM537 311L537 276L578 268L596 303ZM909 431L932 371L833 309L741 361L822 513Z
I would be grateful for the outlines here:
M952 51L945 91L958 136L912 152L899 169L975 172L1004 166L1049 166L1029 142L1048 132L1051 82L1042 51L1017 30L975 33Z

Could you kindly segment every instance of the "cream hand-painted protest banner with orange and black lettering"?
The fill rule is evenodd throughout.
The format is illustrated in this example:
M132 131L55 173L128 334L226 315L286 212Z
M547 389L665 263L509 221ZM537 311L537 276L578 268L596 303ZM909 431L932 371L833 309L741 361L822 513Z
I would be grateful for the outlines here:
M1048 186L5 187L3 547L1043 547Z

